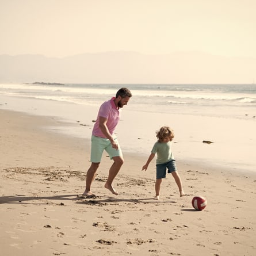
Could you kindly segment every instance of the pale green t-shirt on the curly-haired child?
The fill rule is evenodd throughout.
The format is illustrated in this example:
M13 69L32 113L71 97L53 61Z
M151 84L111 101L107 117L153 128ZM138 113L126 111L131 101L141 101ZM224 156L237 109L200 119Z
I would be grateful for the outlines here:
M156 154L156 165L159 163L167 163L171 160L175 160L173 153L171 152L171 142L156 142L151 150L151 153Z

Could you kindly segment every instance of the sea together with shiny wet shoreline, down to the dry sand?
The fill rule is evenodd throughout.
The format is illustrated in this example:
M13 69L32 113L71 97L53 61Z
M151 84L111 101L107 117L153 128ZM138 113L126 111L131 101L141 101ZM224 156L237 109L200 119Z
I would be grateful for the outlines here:
M254 84L1 84L0 108L58 117L74 125L53 130L89 139L98 107L120 87L128 87L133 94L122 109L116 130L124 152L146 157L156 140L155 131L169 125L175 131L173 151L177 159L256 171Z

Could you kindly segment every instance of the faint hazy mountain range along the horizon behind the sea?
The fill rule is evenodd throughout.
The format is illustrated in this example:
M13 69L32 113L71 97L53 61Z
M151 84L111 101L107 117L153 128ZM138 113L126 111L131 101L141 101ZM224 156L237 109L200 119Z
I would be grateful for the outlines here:
M203 52L115 51L66 58L0 55L0 67L0 83L252 83L256 79L256 58Z

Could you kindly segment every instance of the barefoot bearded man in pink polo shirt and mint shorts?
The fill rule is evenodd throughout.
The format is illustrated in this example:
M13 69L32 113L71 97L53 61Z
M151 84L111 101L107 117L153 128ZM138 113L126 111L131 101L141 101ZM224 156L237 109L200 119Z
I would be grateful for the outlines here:
M113 194L118 194L113 188L112 182L117 173L119 173L119 170L124 163L124 158L119 142L114 135L114 129L120 120L120 109L128 104L131 97L132 94L129 89L121 88L117 91L116 97L104 102L100 107L91 136L91 166L86 174L86 188L85 192L83 192L84 196L94 196L91 192L91 183L100 166L104 150L108 152L110 159L113 159L114 161L109 169L109 176L105 183L105 188L109 189Z

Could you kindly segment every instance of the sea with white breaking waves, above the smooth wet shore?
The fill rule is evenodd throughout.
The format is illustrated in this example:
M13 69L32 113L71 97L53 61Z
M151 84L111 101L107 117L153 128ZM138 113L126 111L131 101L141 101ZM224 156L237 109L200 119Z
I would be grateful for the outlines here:
M170 108L181 114L198 114L246 118L255 114L256 85L0 85L0 94L15 97L99 105L112 97L120 87L133 94L132 109L169 113ZM216 113L213 109L229 110ZM185 110L185 111L184 111ZM248 113L246 113L248 112ZM242 115L241 115L242 113Z

